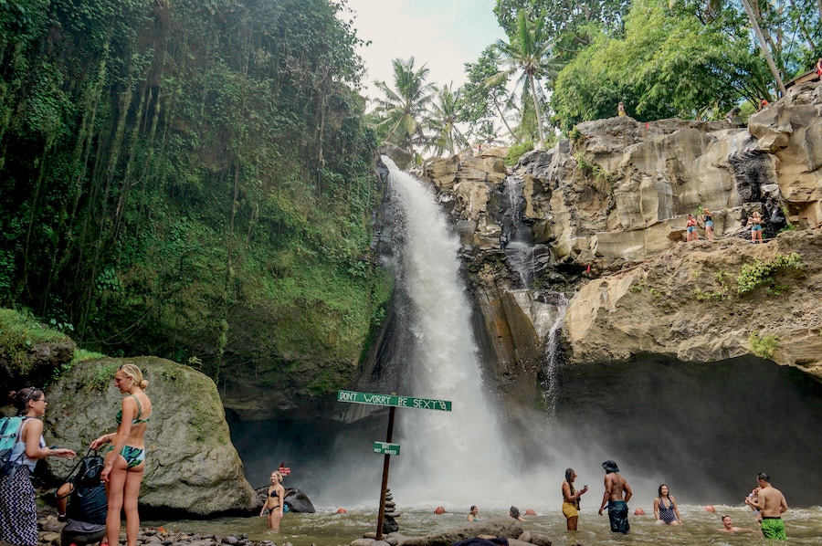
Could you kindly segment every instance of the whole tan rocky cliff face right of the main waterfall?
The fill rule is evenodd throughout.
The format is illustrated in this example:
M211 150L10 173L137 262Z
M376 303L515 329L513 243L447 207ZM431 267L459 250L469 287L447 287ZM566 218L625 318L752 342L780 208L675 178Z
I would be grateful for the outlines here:
M499 362L492 373L501 390L522 382L511 389L512 407L538 402L525 385L538 378L533 363L543 358L554 319L534 310L556 309L546 298L551 289L576 294L564 326L576 362L642 352L720 360L754 352L754 333L775 340L775 362L822 378L822 316L814 309L820 131L822 84L815 83L791 89L747 127L612 118L581 123L572 140L532 152L513 169L493 155L427 162L422 177L437 187L461 237L480 345ZM686 215L700 207L713 211L717 240L686 244ZM754 210L764 215L766 236L785 225L785 213L804 231L754 247L744 226ZM705 238L702 225L699 234ZM805 267L775 280L771 291L781 295L766 288L737 295L745 264L793 251Z

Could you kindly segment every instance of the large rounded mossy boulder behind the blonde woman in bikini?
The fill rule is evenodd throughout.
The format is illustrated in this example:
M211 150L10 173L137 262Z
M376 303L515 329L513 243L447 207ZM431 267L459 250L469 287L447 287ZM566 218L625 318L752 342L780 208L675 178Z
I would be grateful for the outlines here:
M85 453L92 439L113 432L122 400L113 376L123 362L140 366L153 403L141 504L198 515L259 507L215 383L188 366L155 357L81 362L47 389L46 436ZM56 476L74 464L57 457L47 462Z

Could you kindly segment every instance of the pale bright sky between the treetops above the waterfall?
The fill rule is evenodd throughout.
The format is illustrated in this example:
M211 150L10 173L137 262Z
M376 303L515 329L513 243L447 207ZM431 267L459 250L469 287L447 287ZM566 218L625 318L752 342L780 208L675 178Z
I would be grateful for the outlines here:
M497 24L495 0L348 0L357 37L371 41L358 53L367 74L364 94L381 97L374 80L394 85L395 58L426 64L427 83L458 87L466 81L464 63L475 62L485 47L506 39Z

